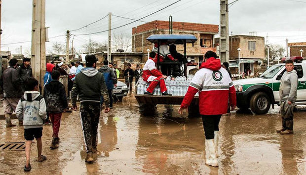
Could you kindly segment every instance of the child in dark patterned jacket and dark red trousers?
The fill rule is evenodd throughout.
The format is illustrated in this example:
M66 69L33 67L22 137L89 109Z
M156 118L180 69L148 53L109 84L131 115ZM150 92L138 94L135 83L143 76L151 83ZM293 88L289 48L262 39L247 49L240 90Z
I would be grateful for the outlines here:
M58 70L53 70L51 73L52 81L47 84L43 89L43 98L46 101L47 111L49 113L52 122L52 142L50 145L51 149L58 148L60 138L58 132L61 125L62 112L66 111L67 96L64 85L59 82L61 73Z

